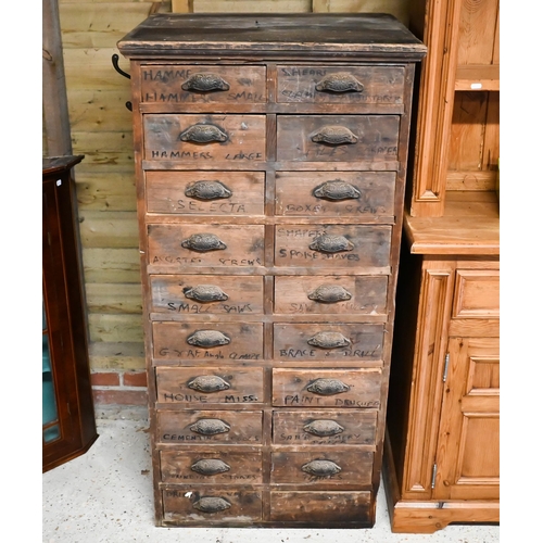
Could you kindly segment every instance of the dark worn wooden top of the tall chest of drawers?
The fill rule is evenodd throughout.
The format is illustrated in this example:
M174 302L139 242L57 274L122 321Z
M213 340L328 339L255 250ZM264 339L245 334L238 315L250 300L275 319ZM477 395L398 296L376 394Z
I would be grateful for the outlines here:
M420 60L426 46L394 16L356 14L169 14L143 21L117 43L128 58L220 51L396 55Z

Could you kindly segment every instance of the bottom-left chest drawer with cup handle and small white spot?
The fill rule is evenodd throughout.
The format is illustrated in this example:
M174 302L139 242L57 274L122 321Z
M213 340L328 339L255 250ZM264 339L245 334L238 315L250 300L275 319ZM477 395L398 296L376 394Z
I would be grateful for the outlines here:
M176 526L232 522L251 525L262 518L262 493L252 489L186 487L162 491L164 521Z

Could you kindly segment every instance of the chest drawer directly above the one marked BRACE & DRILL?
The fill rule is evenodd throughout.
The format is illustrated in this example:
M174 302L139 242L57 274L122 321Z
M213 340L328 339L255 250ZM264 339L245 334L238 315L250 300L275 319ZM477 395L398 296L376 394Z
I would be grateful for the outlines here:
M387 316L388 276L275 278L275 313Z

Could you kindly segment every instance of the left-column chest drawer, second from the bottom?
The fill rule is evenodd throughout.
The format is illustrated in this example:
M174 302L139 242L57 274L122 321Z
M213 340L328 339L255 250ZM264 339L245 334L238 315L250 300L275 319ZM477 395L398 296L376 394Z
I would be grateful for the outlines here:
M161 480L179 484L252 484L262 482L262 453L161 451Z

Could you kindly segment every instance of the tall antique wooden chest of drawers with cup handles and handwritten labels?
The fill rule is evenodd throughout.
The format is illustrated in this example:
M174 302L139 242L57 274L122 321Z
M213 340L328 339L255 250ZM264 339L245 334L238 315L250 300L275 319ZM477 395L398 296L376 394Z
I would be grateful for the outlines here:
M371 527L425 46L387 14L156 14L118 48L156 523Z

